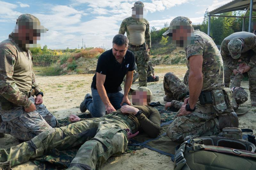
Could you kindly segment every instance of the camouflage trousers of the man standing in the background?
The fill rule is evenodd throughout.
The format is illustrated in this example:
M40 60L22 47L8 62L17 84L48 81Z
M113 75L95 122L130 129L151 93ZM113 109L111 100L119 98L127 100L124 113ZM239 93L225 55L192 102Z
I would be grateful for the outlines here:
M130 50L130 49L129 49ZM135 62L138 67L139 73L139 85L140 87L147 86L147 69L148 69L148 61L149 61L149 54L147 50L139 50L133 51L130 50L135 55Z

